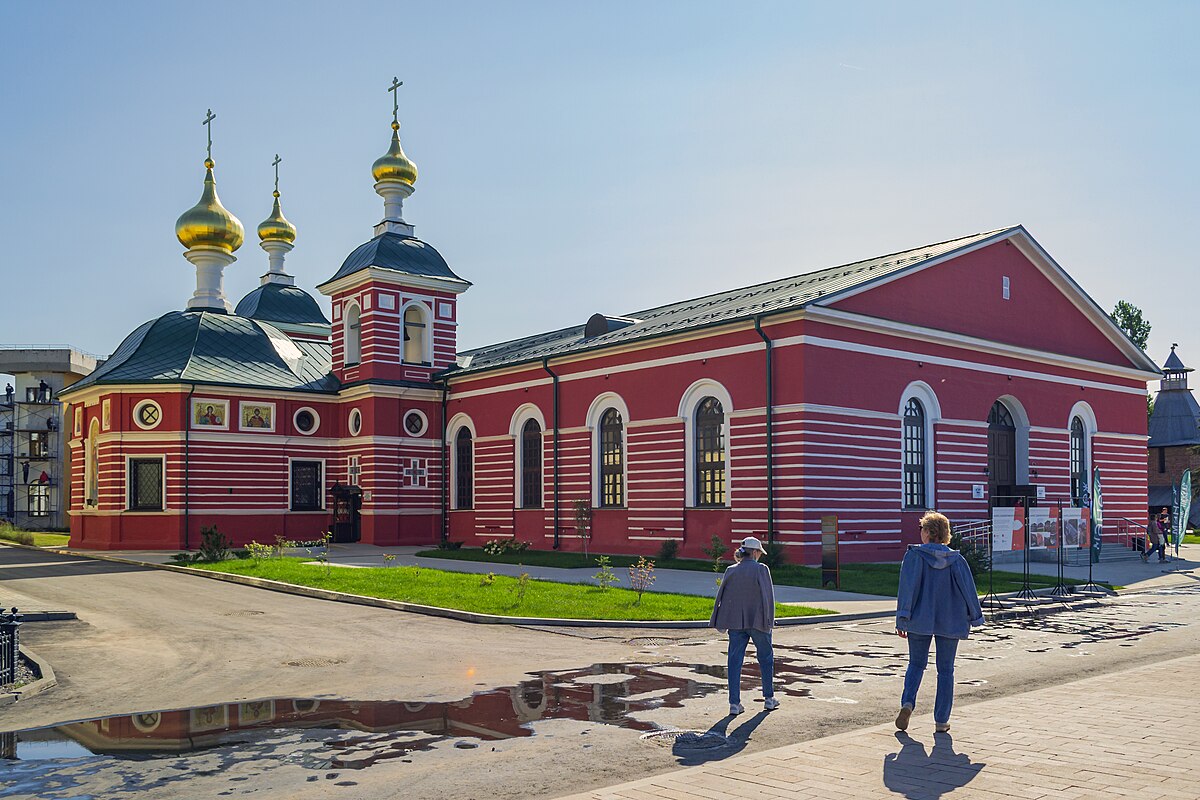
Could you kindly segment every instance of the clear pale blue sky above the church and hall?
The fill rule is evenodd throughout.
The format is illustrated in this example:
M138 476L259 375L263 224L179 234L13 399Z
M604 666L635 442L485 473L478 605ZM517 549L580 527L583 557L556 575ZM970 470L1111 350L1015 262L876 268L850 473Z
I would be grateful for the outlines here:
M332 275L380 217L397 74L406 217L475 283L461 348L1024 223L1200 366L1198 29L1196 2L10 5L0 342L106 354L184 306L210 107L227 294L265 271L276 152L289 269Z

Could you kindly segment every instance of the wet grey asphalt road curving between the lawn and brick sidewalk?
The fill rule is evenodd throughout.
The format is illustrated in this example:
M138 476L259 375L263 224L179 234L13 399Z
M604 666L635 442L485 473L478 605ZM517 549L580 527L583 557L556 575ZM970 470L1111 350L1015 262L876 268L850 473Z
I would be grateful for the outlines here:
M1177 585L972 637L959 704L1200 652L1200 578ZM746 714L728 720L713 632L476 626L0 547L5 595L79 619L26 626L60 685L0 709L0 732L269 698L278 709L282 698L400 700L460 721L427 736L300 726L185 754L0 766L0 794L47 800L562 796L886 721L906 646L887 620L781 628L782 708L758 712L750 692ZM931 690L930 676L919 703ZM355 718L398 705L361 708ZM643 738L655 728L712 733Z

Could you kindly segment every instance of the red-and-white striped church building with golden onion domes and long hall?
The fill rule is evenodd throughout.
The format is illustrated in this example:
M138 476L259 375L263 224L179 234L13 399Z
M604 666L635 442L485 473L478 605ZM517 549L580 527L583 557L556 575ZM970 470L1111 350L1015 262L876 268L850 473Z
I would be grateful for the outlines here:
M890 560L926 509L1080 503L1093 467L1106 524L1144 521L1160 372L1024 227L463 351L472 283L406 222L391 127L383 219L317 287L328 317L287 272L277 186L262 285L230 306L245 231L205 161L175 231L191 300L61 392L72 546L194 548L216 525L701 557L754 535L811 564L834 515L844 559Z

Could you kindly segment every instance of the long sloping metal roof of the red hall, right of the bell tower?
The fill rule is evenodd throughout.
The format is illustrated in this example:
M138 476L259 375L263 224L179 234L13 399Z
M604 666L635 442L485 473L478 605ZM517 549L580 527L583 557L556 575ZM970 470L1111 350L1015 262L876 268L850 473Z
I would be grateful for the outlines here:
M751 319L757 314L774 313L827 299L833 293L856 288L882 277L911 269L958 249L971 247L986 239L1000 236L1015 228L1000 228L985 233L924 245L899 253L880 255L816 272L757 283L742 289L685 300L656 308L625 314L630 325L584 339L584 326L564 327L511 342L467 350L458 356L460 372L475 372L500 366L540 360L581 350L624 344L642 338L678 333Z

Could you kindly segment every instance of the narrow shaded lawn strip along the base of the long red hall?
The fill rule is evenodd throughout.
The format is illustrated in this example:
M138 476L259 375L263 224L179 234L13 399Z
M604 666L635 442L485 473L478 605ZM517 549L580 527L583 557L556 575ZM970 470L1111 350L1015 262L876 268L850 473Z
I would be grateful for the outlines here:
M595 555L584 558L582 553L554 553L553 551L526 551L524 553L506 553L504 555L488 555L481 549L457 549L457 551L422 551L418 555L425 558L457 559L462 561L493 561L496 564L523 564L526 566L557 566L565 569L595 569ZM631 555L611 555L613 567L626 567L637 560ZM659 561L655 559L654 566L660 570L700 570L713 571L712 561L697 559L671 559ZM821 570L812 566L798 566L785 564L770 571L776 585L781 587L810 587L820 588ZM992 577L994 590L997 594L1016 591L1021 588L1020 572L1000 572ZM980 576L978 579L979 594L988 593L988 577ZM1066 581L1069 584L1084 583L1084 581ZM844 564L841 566L841 590L857 591L868 595L887 595L895 597L900 584L899 564ZM1031 575L1030 587L1044 589L1055 585L1055 578Z

